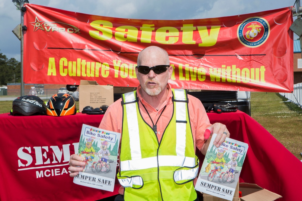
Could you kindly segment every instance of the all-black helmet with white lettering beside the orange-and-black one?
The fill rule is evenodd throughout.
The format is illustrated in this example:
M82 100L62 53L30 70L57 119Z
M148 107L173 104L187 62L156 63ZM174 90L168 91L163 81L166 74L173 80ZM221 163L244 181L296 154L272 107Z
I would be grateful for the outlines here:
M12 115L45 115L46 105L38 96L20 96L13 101Z

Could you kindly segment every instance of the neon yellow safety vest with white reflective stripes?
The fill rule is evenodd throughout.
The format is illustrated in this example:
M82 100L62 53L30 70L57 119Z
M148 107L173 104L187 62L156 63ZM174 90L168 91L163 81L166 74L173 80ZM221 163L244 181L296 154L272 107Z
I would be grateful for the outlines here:
M136 91L123 94L120 171L124 200L195 200L198 158L185 90L172 89L173 115L159 142L143 120Z

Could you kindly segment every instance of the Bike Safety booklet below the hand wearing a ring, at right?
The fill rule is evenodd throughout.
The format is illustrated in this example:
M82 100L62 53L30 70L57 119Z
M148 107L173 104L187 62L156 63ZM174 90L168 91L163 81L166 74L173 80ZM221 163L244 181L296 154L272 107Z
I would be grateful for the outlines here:
M213 134L195 185L195 190L233 200L248 144L226 138L217 148ZM212 145L212 146L211 146Z

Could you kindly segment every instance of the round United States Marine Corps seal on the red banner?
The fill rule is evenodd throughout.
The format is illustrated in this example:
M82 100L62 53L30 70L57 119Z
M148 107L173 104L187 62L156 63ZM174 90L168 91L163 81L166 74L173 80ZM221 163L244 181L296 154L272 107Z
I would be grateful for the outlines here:
M259 47L268 39L270 27L262 17L250 17L237 29L238 40L246 47Z

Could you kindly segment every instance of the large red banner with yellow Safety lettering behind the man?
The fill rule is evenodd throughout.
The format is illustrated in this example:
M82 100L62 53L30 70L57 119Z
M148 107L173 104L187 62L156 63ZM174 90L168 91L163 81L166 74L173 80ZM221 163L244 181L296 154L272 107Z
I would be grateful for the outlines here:
M172 87L291 92L292 7L197 20L102 17L25 4L24 82L138 86L147 46L167 50Z

